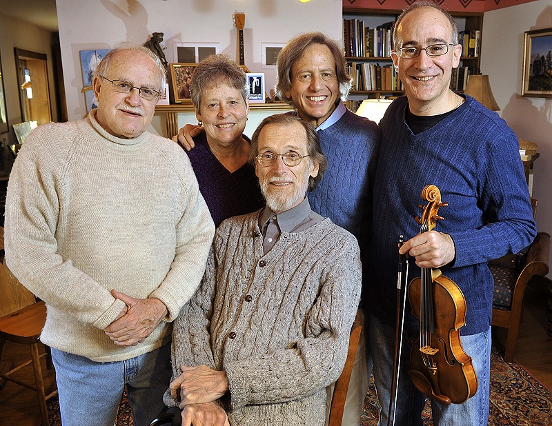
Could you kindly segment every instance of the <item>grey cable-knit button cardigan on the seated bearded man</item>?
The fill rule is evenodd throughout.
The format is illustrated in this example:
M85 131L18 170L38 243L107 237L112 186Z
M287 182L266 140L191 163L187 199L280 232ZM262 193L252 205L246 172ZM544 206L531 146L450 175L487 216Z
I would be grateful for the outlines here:
M324 219L283 232L263 255L258 219L217 228L204 280L175 321L173 378L181 365L226 370L231 425L322 426L359 302L358 244Z

